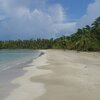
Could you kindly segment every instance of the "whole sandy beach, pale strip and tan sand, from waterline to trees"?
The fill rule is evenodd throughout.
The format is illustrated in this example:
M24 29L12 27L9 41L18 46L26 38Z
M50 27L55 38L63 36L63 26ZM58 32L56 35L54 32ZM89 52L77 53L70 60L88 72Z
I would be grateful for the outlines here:
M42 52L5 100L100 100L100 53Z

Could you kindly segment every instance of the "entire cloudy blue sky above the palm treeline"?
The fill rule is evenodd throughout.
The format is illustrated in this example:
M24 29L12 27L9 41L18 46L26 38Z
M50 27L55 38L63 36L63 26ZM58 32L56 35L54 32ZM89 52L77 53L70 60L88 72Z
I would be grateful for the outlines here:
M99 16L100 0L0 0L0 40L70 35Z

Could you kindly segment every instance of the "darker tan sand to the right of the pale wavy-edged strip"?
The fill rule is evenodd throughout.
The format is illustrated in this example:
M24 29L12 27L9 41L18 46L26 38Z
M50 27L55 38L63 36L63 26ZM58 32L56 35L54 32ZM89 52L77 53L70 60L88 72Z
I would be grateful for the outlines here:
M46 93L32 100L100 100L100 54L48 50L48 75L32 77L45 84Z

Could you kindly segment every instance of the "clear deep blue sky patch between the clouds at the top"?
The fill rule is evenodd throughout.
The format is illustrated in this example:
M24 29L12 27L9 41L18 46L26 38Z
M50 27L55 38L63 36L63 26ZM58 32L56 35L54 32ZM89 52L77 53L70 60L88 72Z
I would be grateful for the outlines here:
M49 4L59 3L68 12L70 19L79 19L82 15L86 13L88 5L93 2L93 0L49 0Z

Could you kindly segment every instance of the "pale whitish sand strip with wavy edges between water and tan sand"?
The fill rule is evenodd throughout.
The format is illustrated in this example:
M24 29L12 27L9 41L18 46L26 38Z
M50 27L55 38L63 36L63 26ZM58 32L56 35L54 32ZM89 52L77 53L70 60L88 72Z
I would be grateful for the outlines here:
M45 52L45 51L43 51ZM46 54L35 59L31 67L26 67L26 74L12 81L13 84L19 85L19 88L11 92L5 100L33 100L36 97L43 95L46 90L43 83L32 82L31 77L52 73L50 70L38 69L39 66L48 65Z

